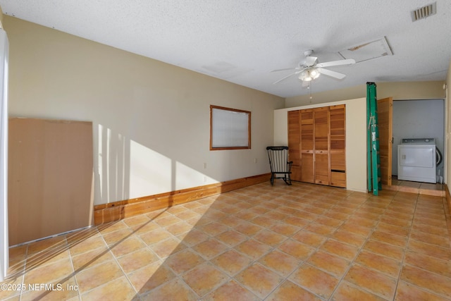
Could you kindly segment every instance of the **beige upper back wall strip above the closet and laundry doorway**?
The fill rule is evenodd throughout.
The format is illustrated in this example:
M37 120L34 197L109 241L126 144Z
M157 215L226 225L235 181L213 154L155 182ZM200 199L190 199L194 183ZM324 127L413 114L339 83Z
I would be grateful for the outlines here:
M313 85L313 84L312 84ZM443 81L433 82L376 82L378 99L393 97L400 99L443 99ZM336 102L344 99L366 97L366 84L340 90L326 91L316 94L289 97L285 99L285 107Z

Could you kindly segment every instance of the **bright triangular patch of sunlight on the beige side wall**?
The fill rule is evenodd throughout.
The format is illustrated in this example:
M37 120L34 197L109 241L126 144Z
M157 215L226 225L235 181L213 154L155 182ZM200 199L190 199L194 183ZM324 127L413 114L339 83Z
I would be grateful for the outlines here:
M97 143L94 142L96 204L217 182L205 173L130 140L104 125L97 126L94 139L97 139Z

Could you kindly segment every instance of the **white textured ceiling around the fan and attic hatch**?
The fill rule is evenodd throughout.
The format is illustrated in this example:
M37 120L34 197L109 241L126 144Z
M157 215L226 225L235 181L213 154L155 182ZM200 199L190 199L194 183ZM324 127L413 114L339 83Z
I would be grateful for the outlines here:
M292 97L309 94L296 77L276 82L313 49L319 62L386 38L393 56L330 67L311 92L366 82L445 80L451 59L451 1L412 22L434 0L0 0L8 16L52 27L239 85Z

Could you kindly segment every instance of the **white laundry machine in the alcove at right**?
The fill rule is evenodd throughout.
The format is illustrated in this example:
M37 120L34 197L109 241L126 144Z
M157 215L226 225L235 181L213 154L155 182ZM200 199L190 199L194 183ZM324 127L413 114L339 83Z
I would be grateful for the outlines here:
M397 178L436 183L435 140L402 139L397 146Z

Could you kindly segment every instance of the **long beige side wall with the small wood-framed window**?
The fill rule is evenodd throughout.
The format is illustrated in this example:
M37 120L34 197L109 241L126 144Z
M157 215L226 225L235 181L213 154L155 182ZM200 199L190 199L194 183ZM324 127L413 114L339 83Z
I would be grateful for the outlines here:
M17 18L4 27L10 116L93 122L94 204L269 172L284 99ZM209 151L210 104L252 111L252 149Z

